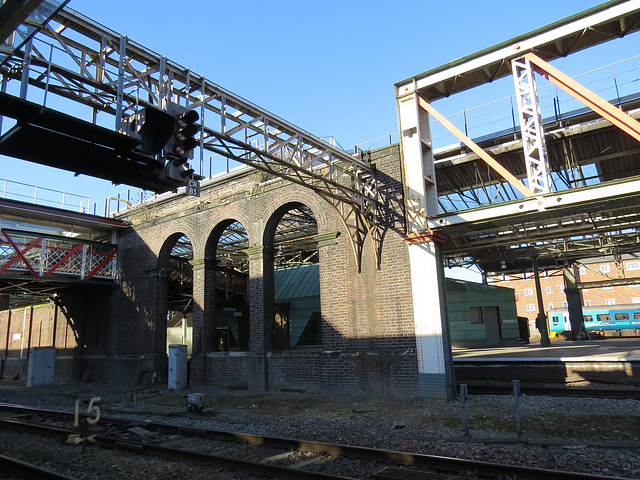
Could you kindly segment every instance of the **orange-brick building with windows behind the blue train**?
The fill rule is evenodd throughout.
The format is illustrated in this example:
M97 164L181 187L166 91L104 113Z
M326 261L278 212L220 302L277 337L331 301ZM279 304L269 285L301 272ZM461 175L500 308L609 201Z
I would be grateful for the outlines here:
M576 282L582 284L579 291L584 307L638 304L640 308L640 281L620 284L624 283L623 279L640 279L640 254L624 255L617 263L612 257L585 260L576 264L575 276ZM514 289L518 316L529 319L532 337L539 336L534 327L538 302L533 273L495 275L488 280L494 285ZM595 285L590 287L588 284ZM567 307L562 269L540 272L540 287L545 312Z

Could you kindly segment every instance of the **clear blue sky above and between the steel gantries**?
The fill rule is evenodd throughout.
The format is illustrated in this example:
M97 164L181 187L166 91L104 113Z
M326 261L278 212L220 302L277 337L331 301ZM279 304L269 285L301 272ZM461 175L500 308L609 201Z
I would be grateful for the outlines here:
M395 82L599 3L71 0L69 6L349 150L390 134L397 141ZM638 46L635 34L554 64L573 75L636 55ZM436 108L450 114L506 97L513 94L509 82L445 99ZM2 160L2 178L94 202L127 188Z

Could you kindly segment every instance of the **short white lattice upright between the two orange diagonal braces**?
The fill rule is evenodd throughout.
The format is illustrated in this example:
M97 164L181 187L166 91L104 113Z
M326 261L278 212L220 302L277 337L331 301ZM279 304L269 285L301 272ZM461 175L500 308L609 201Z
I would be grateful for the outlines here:
M516 89L518 116L522 131L522 151L527 167L529 189L535 195L549 193L552 185L551 176L533 67L529 59L525 57L513 60L511 67Z

